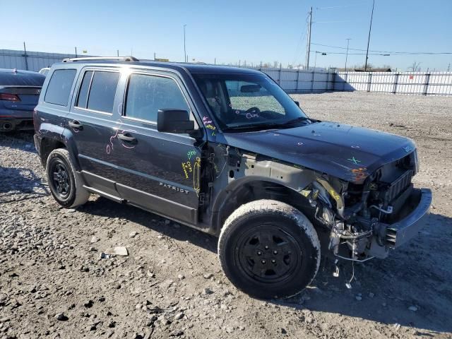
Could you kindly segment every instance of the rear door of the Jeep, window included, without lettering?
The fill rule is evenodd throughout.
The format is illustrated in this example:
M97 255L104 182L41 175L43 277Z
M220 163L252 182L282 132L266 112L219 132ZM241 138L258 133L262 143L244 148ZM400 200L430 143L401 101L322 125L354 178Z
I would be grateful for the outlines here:
M88 186L117 196L115 169L110 164L112 138L116 133L117 87L121 72L117 67L85 67L78 76L66 126L71 129L83 179Z

